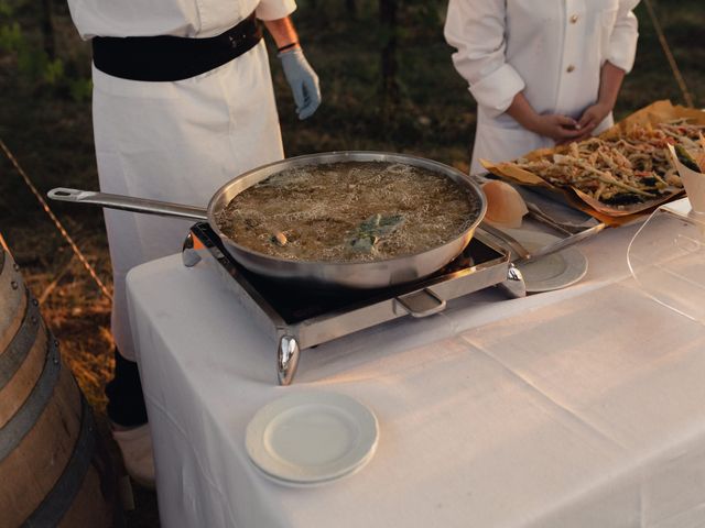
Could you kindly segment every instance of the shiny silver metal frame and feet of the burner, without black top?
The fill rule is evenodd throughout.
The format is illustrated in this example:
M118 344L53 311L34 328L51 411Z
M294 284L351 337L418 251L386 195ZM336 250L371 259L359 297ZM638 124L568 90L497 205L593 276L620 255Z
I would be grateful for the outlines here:
M448 300L489 286L500 286L509 297L527 295L521 272L510 262L506 248L495 243L479 230L474 237L499 256L489 261L441 272L411 285L371 294L370 298L333 309L323 315L288 322L260 290L247 278L247 271L224 249L219 238L206 222L194 224L182 250L185 266L196 265L203 257L214 258L225 284L253 317L257 324L278 342L276 373L280 385L294 378L301 351L364 330L399 317L423 318L443 311ZM457 266L456 266L457 267Z

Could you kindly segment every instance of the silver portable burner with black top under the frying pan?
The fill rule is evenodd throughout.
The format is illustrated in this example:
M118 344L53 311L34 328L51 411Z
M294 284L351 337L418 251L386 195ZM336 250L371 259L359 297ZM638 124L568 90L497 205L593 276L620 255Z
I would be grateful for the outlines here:
M510 297L523 297L521 272L509 251L479 230L452 263L411 284L372 290L319 290L257 275L227 252L208 223L191 228L182 251L185 266L214 258L225 283L257 323L278 342L278 377L289 385L301 351L398 317L427 317L446 301L500 286Z

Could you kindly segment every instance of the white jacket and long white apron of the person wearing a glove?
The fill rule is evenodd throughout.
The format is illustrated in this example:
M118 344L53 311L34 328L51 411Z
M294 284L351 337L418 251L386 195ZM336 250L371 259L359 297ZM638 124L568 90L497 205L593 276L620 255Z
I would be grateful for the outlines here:
M257 10L288 16L294 0L68 0L84 38L223 33ZM225 183L283 157L264 42L196 77L127 80L94 67L93 119L100 189L205 207ZM106 209L113 273L112 334L134 360L124 278L177 253L193 221ZM177 307L175 307L177 309Z

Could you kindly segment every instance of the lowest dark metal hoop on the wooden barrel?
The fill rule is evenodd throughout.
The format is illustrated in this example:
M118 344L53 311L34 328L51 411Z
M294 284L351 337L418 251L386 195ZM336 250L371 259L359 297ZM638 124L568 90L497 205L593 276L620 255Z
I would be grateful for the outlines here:
M36 509L21 525L26 528L56 526L64 518L86 477L96 450L96 424L90 406L80 395L80 431L62 476Z

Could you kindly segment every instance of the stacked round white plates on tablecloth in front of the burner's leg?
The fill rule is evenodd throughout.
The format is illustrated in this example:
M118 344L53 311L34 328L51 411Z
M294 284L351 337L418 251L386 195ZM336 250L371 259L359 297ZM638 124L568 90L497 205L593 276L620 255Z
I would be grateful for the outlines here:
M319 484L359 470L379 438L370 409L344 394L296 392L257 411L245 444L252 462L282 484Z

